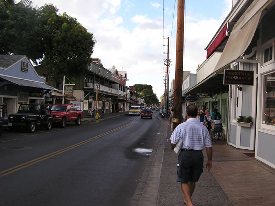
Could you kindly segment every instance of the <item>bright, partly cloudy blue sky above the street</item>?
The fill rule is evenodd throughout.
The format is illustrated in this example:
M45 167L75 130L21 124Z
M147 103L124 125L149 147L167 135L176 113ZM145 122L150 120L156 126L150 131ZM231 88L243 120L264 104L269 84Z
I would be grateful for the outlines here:
M177 0L32 2L38 7L51 3L59 9L59 14L66 12L76 18L94 34L96 44L91 57L101 59L104 68L115 66L126 71L127 86L152 85L159 99L164 93L163 59L167 56L163 53L167 53L169 36L170 80L175 78ZM231 8L232 0L185 0L183 71L196 73L198 64L206 59L204 48Z

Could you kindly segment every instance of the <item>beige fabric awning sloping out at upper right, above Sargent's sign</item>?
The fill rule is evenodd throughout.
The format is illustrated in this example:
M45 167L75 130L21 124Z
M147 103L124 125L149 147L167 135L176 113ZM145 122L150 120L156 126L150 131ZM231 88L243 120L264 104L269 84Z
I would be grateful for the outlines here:
M214 69L218 71L243 56L257 29L262 10L268 0L254 1L235 24L220 59Z

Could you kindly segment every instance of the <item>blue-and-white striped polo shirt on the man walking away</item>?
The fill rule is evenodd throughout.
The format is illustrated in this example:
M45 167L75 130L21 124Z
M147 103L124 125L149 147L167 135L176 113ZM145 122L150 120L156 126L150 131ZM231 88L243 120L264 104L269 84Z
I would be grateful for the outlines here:
M175 128L170 138L171 143L176 144L179 138L182 138L182 149L203 150L204 145L212 147L209 131L196 118L189 118Z

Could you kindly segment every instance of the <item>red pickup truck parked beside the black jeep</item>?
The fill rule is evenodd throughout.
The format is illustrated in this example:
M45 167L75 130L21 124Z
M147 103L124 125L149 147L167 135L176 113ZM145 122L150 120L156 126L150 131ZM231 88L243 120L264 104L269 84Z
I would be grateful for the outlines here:
M81 124L83 111L76 111L72 104L54 104L51 107L53 123L59 123L61 128L66 126L67 122L75 121L76 125Z

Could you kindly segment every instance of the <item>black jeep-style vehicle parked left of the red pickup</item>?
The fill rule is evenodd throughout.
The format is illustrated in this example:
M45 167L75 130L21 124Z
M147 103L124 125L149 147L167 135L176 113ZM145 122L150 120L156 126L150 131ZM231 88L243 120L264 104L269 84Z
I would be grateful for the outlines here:
M28 132L34 132L36 126L43 126L51 129L53 115L46 104L20 104L18 113L8 116L8 129L24 127Z

